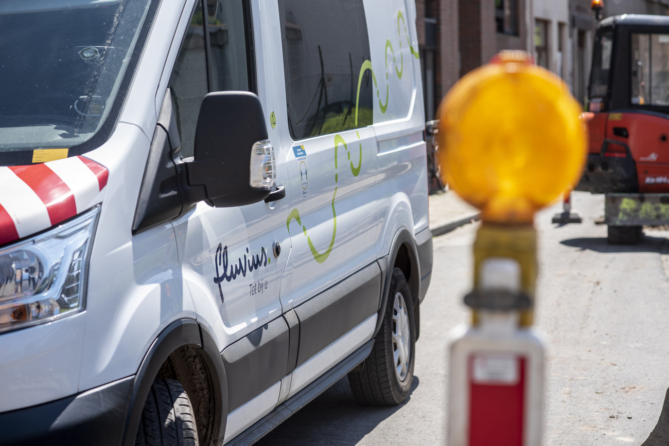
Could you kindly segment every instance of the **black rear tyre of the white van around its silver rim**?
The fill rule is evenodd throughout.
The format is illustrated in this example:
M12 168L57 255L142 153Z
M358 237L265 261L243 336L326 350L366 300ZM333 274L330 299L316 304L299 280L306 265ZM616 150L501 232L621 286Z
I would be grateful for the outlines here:
M400 299L397 296L401 296ZM393 341L393 330L397 329L395 320L397 319L397 303L400 303L400 312L403 316L401 320L406 319L405 336L407 342L403 343L404 349L400 343ZM404 311L401 310L403 306ZM408 329L408 332L407 332ZM400 330L401 331L401 330ZM406 353L405 346L408 344L408 360L401 361L402 353ZM395 352L399 353L399 358L395 359ZM383 322L375 338L374 347L361 366L356 367L349 373L349 384L355 398L363 404L373 405L398 405L403 403L411 391L411 382L413 381L413 364L415 362L415 319L413 318L413 298L404 274L399 268L393 270L393 276L390 282L388 301L385 312L383 313ZM397 368L401 367L400 373Z

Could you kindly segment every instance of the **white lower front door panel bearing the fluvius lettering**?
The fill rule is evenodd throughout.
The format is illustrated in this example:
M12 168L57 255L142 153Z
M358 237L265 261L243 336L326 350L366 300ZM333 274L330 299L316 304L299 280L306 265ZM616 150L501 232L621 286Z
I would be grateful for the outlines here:
M287 253L276 258L272 244L289 251L290 240L285 217L273 211L264 202L241 208L200 202L173 223L198 321L221 349L281 315Z

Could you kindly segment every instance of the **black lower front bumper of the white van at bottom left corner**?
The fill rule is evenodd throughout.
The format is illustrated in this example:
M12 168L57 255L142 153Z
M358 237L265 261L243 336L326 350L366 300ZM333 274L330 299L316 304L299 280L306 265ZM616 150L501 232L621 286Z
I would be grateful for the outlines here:
M0 443L120 445L134 377L36 406L0 413Z

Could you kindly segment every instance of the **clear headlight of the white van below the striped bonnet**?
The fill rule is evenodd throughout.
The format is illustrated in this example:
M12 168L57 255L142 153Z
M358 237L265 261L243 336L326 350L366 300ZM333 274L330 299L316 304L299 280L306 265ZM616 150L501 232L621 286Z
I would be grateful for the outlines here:
M0 332L84 310L88 256L100 206L0 249Z

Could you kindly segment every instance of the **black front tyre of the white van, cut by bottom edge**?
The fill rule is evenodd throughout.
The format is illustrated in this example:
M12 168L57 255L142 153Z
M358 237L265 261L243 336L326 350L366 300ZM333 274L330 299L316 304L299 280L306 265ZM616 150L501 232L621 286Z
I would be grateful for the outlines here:
M144 404L135 446L198 446L191 400L179 381L156 379Z

